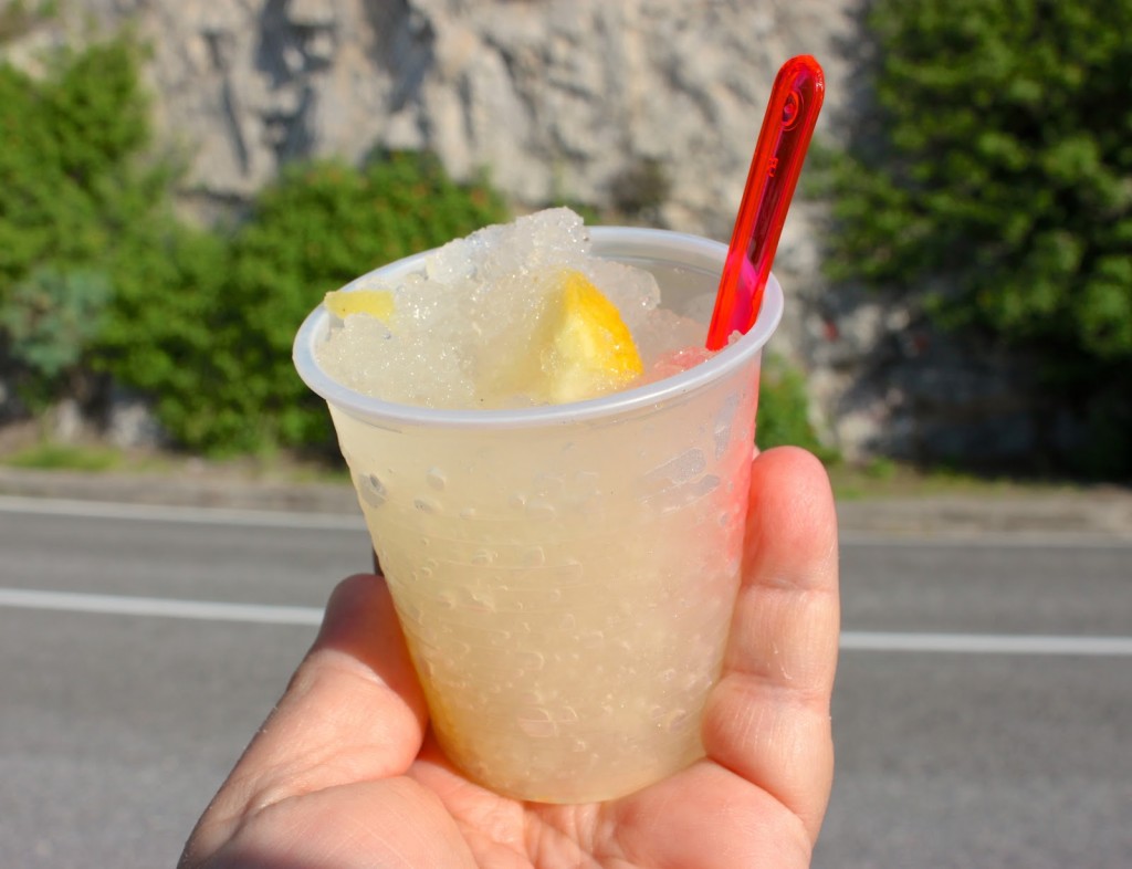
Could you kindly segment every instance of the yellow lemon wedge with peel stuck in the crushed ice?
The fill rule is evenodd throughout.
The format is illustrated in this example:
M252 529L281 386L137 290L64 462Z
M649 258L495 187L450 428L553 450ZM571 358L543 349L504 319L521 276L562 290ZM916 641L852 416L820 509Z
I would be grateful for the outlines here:
M617 307L580 272L563 275L549 325L540 361L546 397L555 404L624 388L644 371Z

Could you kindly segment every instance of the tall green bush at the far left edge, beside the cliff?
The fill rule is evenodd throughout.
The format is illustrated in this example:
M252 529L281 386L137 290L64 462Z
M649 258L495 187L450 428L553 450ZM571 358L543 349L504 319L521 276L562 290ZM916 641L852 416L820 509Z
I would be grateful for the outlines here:
M33 406L92 397L130 260L161 265L151 242L171 178L140 161L148 104L132 40L44 60L37 78L0 63L0 349Z

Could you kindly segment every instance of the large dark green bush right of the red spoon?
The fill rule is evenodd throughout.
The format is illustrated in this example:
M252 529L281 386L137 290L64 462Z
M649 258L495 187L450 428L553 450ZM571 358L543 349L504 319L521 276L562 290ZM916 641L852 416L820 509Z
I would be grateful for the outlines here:
M867 27L832 276L932 287L941 324L1036 353L1087 413L1132 375L1132 0L875 0Z

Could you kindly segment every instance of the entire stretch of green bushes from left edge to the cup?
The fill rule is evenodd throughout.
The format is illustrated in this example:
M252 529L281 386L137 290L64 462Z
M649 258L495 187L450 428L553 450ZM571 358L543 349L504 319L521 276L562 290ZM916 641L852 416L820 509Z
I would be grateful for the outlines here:
M86 367L140 390L182 447L326 445L325 408L291 365L302 318L506 209L431 156L380 154L290 166L234 232L190 229L171 166L145 161L140 58L123 35L57 52L41 78L0 64L0 350L43 401Z

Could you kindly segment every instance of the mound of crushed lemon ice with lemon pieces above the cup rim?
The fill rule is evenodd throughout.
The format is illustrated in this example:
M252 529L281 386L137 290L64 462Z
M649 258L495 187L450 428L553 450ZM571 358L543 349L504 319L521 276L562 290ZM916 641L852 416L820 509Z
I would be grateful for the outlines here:
M672 373L671 353L702 343L705 326L659 302L652 274L591 256L582 218L552 208L453 241L396 285L328 293L341 326L319 362L360 393L429 407L585 401L646 381L643 359Z

